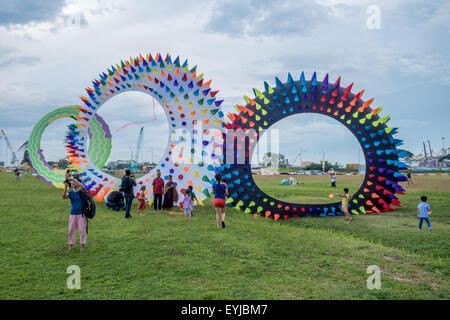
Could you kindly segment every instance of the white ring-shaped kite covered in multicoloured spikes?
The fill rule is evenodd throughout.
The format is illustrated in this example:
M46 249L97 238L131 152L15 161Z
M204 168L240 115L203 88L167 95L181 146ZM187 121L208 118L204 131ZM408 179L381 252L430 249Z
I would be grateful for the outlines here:
M90 128L100 107L112 97L128 91L151 95L163 107L169 122L169 141L164 156L156 167L137 180L134 192L145 185L152 190L152 180L159 170L167 179L172 175L179 190L191 185L199 199L209 196L210 179L220 166L222 153L223 112L217 100L218 91L210 88L211 80L197 75L197 67L189 69L187 60L179 57L172 61L159 53L155 57L140 55L121 61L99 74L87 88L87 97L81 97L87 114L78 118L70 138L71 168L82 172L86 190L101 201L110 192L118 190L121 179L101 171L83 148ZM150 202L153 193L149 192Z

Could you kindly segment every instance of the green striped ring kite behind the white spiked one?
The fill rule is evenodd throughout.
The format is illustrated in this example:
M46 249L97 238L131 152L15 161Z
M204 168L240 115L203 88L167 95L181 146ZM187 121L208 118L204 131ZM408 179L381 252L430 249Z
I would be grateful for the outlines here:
M27 146L30 165L33 167L38 177L50 186L64 188L64 180L66 179L64 175L65 171L53 168L45 160L41 151L42 135L45 129L53 121L61 118L72 118L74 120L79 120L81 114L84 113L87 113L87 111L80 106L65 106L57 108L42 117L31 131ZM71 141L76 140L76 135L73 134L76 128L76 125L70 125L68 133L69 136L66 138ZM90 144L88 154L98 167L103 168L111 152L111 133L108 125L99 115L95 115L92 121L92 125L89 128L89 137ZM68 145L66 147L71 146ZM80 145L80 148L83 151L84 147L85 146L83 144ZM71 153L71 156L76 155L75 149L72 150L73 152Z

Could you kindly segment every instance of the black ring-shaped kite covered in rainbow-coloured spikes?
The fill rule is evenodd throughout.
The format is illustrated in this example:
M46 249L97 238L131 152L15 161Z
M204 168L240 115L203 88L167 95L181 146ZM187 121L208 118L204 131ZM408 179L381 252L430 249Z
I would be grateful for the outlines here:
M401 140L393 138L397 128L386 125L390 116L379 116L382 107L370 108L373 98L361 99L364 90L354 94L351 92L353 83L341 88L340 79L334 84L329 83L327 74L323 81L318 81L314 73L311 80L306 81L302 72L300 79L294 81L289 74L286 83L275 78L275 87L265 82L264 92L253 89L254 99L244 96L246 105L237 105L239 113L228 115L232 122L226 124L224 162L219 169L229 181L229 205L275 220L343 215L340 202L297 204L272 198L261 191L252 177L250 159L265 130L291 115L317 113L329 116L349 129L364 153L366 175L359 190L353 193L349 212L380 213L394 210L392 205L400 206L395 194L404 194L405 190L398 182L406 178L399 170L407 166L399 161L406 152L397 149L402 144Z

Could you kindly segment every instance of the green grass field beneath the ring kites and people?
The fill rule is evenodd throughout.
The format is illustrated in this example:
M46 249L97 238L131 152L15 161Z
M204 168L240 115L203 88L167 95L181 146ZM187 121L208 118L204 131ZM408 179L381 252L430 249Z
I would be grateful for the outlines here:
M280 177L257 179L284 200L327 202L332 192L329 177L300 177L298 195ZM338 190L355 191L357 179L338 177ZM0 173L0 299L449 299L450 176L415 177L405 188L402 208L348 225L343 217L275 222L228 209L227 227L217 230L210 201L191 224L152 209L140 217L136 201L126 220L102 203L79 253L78 245L66 252L62 190ZM417 230L422 194L432 232ZM66 287L70 265L81 268L80 290ZM379 290L366 287L369 265L381 269Z

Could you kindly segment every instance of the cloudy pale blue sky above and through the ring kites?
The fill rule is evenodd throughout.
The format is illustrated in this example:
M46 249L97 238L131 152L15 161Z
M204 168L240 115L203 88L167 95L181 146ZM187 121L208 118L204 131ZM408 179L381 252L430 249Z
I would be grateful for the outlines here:
M380 9L370 29L368 7ZM0 128L18 148L33 125L53 108L80 104L91 80L111 64L157 51L198 65L225 99L225 111L243 104L252 88L274 77L298 79L314 71L341 85L355 82L363 99L375 97L398 126L405 149L422 152L430 140L450 144L450 3L418 0L2 0L0 6ZM262 91L262 90L261 90ZM152 98L124 93L99 114L113 132L110 159L129 159L139 125L153 119ZM144 125L144 159L158 160L168 127L162 108ZM55 121L42 141L48 160L64 156L69 120ZM335 120L298 115L277 125L280 151L294 159L357 162L356 139ZM333 132L332 135L329 133ZM4 146L0 146L0 161Z

